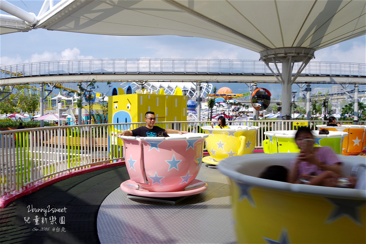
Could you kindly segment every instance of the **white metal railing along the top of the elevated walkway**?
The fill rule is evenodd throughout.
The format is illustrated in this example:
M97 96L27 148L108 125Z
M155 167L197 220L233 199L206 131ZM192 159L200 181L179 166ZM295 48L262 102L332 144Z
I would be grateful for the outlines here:
M294 71L299 63L294 64ZM276 70L275 67L272 67ZM246 74L272 75L259 60L222 59L90 59L1 66L0 79L75 74ZM281 66L280 66L281 72ZM307 64L301 75L366 76L366 64L319 62Z

